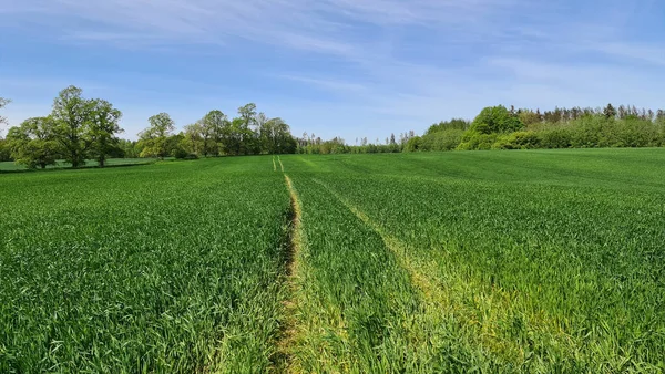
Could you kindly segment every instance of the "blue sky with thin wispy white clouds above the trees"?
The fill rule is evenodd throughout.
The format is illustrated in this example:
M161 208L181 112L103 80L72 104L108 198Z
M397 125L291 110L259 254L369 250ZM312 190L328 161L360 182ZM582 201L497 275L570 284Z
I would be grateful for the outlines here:
M126 138L254 102L350 144L497 104L665 108L664 20L661 0L0 0L0 96L18 125L74 84Z

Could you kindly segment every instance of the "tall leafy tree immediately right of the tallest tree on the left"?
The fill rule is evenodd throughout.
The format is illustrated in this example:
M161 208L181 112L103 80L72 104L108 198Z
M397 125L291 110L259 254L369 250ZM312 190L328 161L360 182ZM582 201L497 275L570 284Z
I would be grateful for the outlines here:
M91 100L88 103L88 133L85 142L89 145L90 155L96 159L100 167L106 165L109 155L117 149L117 133L122 133L119 121L122 112L113 107L105 100Z

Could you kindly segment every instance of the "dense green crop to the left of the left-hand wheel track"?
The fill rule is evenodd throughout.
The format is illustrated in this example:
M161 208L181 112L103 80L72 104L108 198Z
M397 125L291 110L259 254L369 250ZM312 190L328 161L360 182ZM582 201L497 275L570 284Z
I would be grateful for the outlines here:
M288 194L268 158L0 177L0 372L272 366Z

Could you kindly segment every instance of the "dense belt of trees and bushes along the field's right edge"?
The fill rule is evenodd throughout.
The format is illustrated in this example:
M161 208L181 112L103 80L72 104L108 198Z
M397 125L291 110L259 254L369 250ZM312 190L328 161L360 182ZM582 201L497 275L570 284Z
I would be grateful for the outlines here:
M605 107L483 108L473 121L453 118L411 138L406 152L665 146L665 111Z

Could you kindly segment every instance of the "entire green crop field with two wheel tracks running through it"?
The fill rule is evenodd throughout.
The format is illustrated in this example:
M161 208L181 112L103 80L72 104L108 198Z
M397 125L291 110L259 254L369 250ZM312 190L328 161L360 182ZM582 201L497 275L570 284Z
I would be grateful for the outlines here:
M665 371L665 149L227 157L0 188L3 373Z

